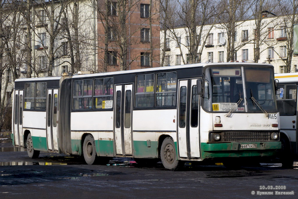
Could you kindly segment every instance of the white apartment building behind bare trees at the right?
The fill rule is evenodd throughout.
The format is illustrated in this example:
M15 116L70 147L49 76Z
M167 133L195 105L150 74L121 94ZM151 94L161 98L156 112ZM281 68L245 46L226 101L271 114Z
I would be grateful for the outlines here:
M235 61L254 60L256 45L256 20L239 21L235 29ZM286 72L285 65L288 53L288 29L285 16L278 17L269 13L262 19L260 31L260 59L258 63L274 65L275 73ZM209 34L208 31L210 30ZM188 64L189 36L185 27L167 31L166 54L164 66ZM199 27L197 27L199 31ZM175 32L176 36L173 34ZM206 39L204 46L202 41ZM163 42L161 33L161 43ZM202 50L201 62L227 62L227 31L224 24L205 25L203 28L198 52ZM162 58L162 57L161 57ZM198 56L197 56L198 59ZM292 56L291 72L297 72L298 56Z

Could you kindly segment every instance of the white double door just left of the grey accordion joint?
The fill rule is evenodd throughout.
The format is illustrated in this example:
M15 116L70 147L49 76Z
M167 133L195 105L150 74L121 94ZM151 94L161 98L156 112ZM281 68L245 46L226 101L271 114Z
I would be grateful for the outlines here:
M48 149L58 151L58 89L48 89L46 102L46 140Z

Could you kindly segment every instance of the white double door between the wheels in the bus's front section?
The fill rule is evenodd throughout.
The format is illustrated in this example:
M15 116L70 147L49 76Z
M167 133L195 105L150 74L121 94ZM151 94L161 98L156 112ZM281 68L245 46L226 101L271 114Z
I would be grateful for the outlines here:
M115 87L114 140L117 155L132 155L131 110L132 84Z

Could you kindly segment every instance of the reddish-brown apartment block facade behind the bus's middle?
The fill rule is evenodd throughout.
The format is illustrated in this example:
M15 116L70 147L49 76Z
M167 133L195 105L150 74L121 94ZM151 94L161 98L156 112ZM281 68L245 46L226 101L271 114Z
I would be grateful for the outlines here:
M132 1L126 11L117 6L117 0L108 1L108 10L103 7L98 15L98 71L159 67L159 1L152 1L151 6L149 0Z

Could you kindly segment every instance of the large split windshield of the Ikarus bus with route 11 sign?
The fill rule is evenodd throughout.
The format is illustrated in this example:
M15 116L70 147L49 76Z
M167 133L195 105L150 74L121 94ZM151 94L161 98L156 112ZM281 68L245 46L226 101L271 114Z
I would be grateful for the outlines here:
M212 106L205 104L205 107L220 112L262 112L260 105L267 112L277 112L271 68L244 67L242 70L238 66L207 70Z

